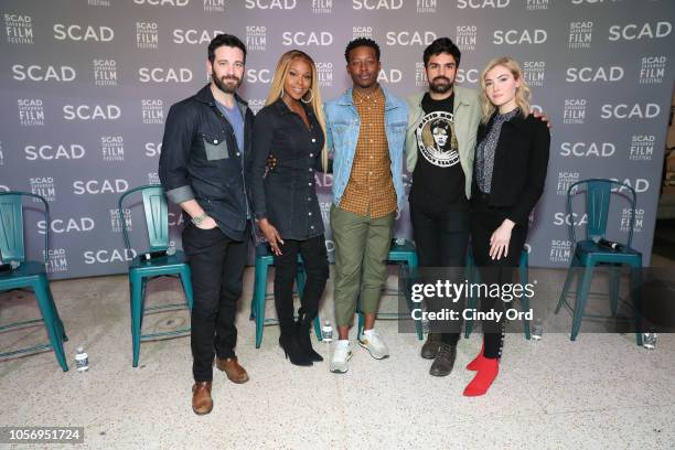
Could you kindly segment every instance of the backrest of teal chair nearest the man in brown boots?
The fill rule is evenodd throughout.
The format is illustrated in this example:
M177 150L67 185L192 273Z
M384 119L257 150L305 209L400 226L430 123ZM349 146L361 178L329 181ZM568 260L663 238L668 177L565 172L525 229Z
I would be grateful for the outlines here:
M158 184L147 184L133 188L119 197L118 214L122 226L125 246L130 249L129 231L124 217L124 202L135 192L141 191L143 210L146 212L146 226L148 229L148 242L150 251L161 251L169 248L169 205L164 190Z

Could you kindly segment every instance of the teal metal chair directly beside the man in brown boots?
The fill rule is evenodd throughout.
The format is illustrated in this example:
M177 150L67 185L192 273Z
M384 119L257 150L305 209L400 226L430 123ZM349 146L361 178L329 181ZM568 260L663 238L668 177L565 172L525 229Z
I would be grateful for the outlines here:
M126 202L130 202L129 196L140 192L142 196L143 211L146 215L146 225L148 231L149 246L147 251L165 251L169 248L169 207L163 189L160 185L149 184L135 188L122 194L118 202L119 219L122 224L122 236L125 246L128 250L131 249L129 240L129 231L124 217L124 206ZM162 338L186 333L190 329L180 329L160 333L141 334L143 324L143 315L146 311L158 311L176 309L183 307L183 303L161 304L151 308L144 308L146 285L148 280L156 277L178 276L183 286L188 308L192 309L193 294L192 282L190 280L190 266L186 264L183 251L175 251L174 255L165 255L150 260L143 260L140 256L136 256L129 264L129 291L131 306L131 346L132 346L132 365L138 367L140 356L140 343L144 340L153 338Z

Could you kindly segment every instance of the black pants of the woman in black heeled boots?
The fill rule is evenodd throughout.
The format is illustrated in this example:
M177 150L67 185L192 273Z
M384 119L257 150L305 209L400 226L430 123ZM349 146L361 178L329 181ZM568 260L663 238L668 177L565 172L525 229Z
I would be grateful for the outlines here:
M329 278L329 262L323 235L306 240L283 239L282 255L275 255L275 306L282 334L292 333L293 283L298 272L298 254L302 256L307 280L298 311L300 320L309 326L319 313L319 300Z

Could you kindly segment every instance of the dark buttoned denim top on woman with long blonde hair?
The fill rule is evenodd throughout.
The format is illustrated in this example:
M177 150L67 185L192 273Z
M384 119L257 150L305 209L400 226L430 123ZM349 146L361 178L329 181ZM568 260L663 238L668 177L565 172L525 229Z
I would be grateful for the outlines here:
M256 116L248 182L256 218L267 217L281 238L303 240L323 233L314 175L321 170L324 135L311 108L303 106L311 130L283 100ZM267 158L277 163L267 171Z

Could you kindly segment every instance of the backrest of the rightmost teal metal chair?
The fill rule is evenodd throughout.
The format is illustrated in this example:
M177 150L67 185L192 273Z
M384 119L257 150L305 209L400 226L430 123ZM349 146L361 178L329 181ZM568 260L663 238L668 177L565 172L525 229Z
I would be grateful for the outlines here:
M614 193L614 189L625 189L630 193L629 202L631 205L631 219L626 245L631 245L633 240L633 227L635 225L635 190L625 183L609 179L580 180L576 183L572 183L567 189L567 214L570 217L569 237L571 242L577 240L575 234L575 221L571 219L572 196L577 193L586 192L586 214L588 216L588 223L586 225L586 238L604 238L604 234L607 233L607 219L609 217L610 200L612 194Z

